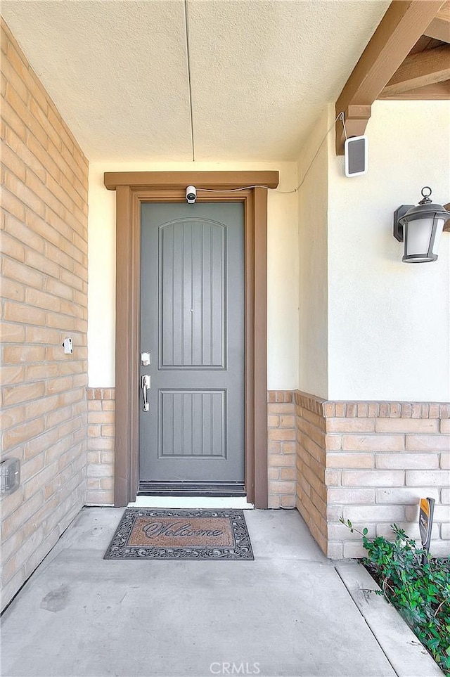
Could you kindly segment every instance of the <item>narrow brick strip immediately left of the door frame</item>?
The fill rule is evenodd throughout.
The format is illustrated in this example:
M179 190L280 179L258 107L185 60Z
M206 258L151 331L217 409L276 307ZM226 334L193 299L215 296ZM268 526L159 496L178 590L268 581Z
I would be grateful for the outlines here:
M114 503L115 388L88 388L87 505Z

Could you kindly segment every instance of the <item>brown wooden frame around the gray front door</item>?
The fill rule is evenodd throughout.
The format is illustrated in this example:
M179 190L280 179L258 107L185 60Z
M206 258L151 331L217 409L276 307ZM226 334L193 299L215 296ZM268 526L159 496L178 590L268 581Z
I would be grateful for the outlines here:
M267 186L278 172L106 172L116 191L115 505L136 498L139 485L139 321L141 202L244 203L245 221L245 489L267 508ZM236 188L257 186L236 192ZM233 192L235 191L235 192Z

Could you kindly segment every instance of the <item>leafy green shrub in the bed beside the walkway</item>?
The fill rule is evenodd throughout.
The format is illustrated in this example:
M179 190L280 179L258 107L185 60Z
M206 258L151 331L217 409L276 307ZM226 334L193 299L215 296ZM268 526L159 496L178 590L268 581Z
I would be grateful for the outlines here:
M450 557L434 559L404 529L392 524L394 541L367 538L352 522L340 522L363 537L363 563L387 600L400 612L439 667L450 676Z

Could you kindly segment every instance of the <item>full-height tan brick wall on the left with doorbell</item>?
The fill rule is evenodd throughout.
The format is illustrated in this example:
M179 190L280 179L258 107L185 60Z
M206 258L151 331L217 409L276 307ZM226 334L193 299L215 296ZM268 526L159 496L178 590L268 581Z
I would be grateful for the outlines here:
M1 51L4 607L85 501L88 165L3 21Z

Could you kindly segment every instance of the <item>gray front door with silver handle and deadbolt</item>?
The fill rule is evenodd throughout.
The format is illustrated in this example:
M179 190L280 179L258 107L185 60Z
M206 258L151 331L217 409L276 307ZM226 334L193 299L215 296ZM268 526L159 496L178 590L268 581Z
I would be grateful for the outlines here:
M141 205L141 351L141 486L243 482L241 202Z

